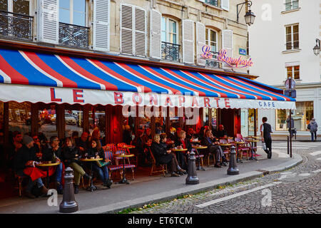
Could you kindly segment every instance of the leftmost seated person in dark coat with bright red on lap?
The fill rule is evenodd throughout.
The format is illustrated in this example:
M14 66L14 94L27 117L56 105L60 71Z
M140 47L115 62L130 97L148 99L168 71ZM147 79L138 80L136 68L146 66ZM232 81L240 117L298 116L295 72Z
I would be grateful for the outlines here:
M29 135L24 135L23 145L17 150L14 156L14 170L20 177L29 176L29 184L26 187L26 196L29 198L35 198L31 194L32 187L36 184L37 187L41 188L41 192L47 195L48 189L44 186L41 180L43 176L41 170L35 167L36 162L38 162L38 157L34 150L34 140ZM30 170L32 168L32 170ZM29 169L27 172L27 169ZM27 175L24 171L29 173Z

